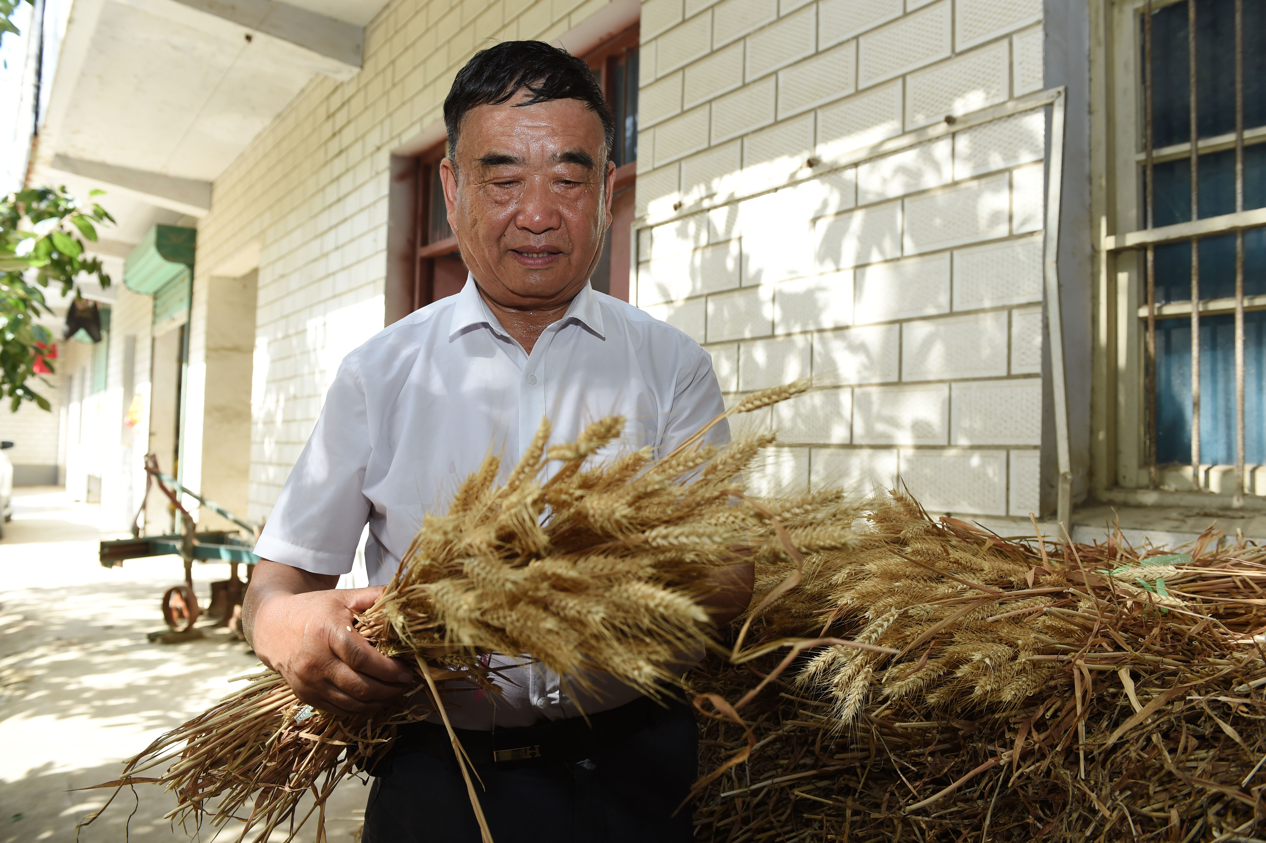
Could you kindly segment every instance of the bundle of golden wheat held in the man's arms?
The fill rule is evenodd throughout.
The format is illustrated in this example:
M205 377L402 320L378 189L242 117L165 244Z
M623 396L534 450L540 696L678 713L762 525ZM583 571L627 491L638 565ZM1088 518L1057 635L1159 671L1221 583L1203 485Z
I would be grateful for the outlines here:
M314 813L322 821L338 781L384 749L400 724L438 711L447 725L437 680L466 678L496 692L481 654L530 653L576 685L598 671L657 692L675 680L666 666L676 656L709 642L699 601L719 568L748 554L776 566L857 540L852 521L860 509L843 492L762 504L743 497L741 472L771 435L719 449L704 444L725 415L805 389L798 382L753 394L660 459L643 449L589 465L623 430L619 418L549 448L543 423L503 485L500 461L490 456L447 514L427 516L400 570L358 619L380 652L404 658L422 677L404 701L386 714L335 716L300 704L266 671L162 735L103 786L163 784L179 800L173 818L209 818L213 825L244 819L239 839L254 833L262 840L282 823L298 832ZM449 734L482 824L451 727ZM151 770L161 773L141 776ZM309 791L313 799L304 802ZM484 833L490 839L486 827Z

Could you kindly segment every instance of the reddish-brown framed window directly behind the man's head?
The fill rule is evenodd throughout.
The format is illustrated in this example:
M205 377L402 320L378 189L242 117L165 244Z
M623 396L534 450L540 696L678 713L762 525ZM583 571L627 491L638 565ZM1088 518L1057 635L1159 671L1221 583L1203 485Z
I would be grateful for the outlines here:
M637 178L638 28L630 27L609 39L585 56L585 61L598 76L615 115L615 148L611 151L611 159L617 170L611 227L603 242L591 282L595 290L628 301L633 182ZM404 313L451 296L466 284L466 265L458 253L457 238L448 227L444 191L439 181L439 162L444 154L444 143L441 142L417 159L417 257L411 300ZM396 313L403 315L399 310ZM392 316L389 322L395 318L399 316Z

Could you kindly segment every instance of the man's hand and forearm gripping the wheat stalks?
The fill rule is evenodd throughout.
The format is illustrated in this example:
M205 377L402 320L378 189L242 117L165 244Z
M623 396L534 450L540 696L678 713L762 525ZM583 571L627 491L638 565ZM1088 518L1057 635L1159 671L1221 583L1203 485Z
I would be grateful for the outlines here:
M406 691L413 673L352 628L382 586L335 590L337 582L260 559L242 604L243 632L304 702L333 714L372 711Z

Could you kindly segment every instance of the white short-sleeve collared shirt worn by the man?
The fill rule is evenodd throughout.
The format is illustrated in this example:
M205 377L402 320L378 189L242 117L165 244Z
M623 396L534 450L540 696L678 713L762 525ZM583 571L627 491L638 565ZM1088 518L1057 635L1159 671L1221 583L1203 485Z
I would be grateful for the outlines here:
M708 353L644 311L586 285L528 354L467 278L460 294L347 356L254 552L314 573L347 573L368 521L366 572L382 585L423 515L443 513L490 451L501 454L504 478L542 416L553 423L551 444L623 415L622 449L649 444L667 453L723 409ZM714 442L728 438L724 425L713 433ZM449 695L454 727L532 725L637 697L604 677L589 677L601 687L596 696L568 694L566 680L537 665L503 676L499 699L477 690Z

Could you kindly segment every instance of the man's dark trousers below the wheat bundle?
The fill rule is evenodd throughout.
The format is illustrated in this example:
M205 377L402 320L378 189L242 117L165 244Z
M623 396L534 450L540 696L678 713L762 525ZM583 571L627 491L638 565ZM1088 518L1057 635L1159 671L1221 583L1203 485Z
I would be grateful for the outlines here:
M698 771L699 732L686 705L577 763L525 770L479 765L480 805L496 843L686 843L690 806L672 813ZM363 843L480 843L452 756L403 748L373 780Z

